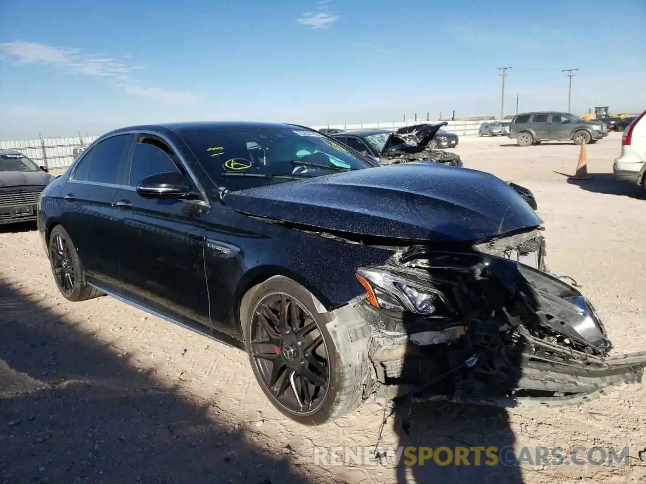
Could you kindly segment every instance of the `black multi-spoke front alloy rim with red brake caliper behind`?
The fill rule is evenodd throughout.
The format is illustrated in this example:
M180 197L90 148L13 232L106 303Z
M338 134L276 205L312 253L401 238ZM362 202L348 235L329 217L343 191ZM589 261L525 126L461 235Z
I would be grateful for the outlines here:
M273 403L295 416L313 414L329 392L326 341L304 304L282 292L253 310L249 345L256 374Z

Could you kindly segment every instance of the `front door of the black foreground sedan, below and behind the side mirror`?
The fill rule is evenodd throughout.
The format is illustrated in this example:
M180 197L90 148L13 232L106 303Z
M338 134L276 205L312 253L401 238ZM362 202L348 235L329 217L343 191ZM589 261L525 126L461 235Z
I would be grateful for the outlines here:
M114 197L120 279L128 296L181 321L209 325L209 295L203 259L203 201L140 196L150 175L180 172L178 156L161 138L139 135L125 185ZM205 204L208 206L208 204Z

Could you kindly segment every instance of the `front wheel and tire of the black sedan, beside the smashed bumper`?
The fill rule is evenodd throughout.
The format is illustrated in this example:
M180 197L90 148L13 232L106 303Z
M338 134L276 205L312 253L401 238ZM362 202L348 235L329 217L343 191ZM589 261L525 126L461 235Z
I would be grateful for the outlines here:
M242 305L240 319L258 385L284 416L321 425L361 405L362 367L340 356L326 326L331 317L306 288L271 277Z

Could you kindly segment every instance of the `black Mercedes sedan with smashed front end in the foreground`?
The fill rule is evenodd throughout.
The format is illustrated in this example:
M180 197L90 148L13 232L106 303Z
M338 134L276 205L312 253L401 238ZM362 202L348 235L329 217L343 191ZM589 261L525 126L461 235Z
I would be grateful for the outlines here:
M375 395L581 401L646 365L609 356L507 183L379 166L304 126L114 130L45 189L38 228L63 297L114 296L246 350L262 392L304 425Z

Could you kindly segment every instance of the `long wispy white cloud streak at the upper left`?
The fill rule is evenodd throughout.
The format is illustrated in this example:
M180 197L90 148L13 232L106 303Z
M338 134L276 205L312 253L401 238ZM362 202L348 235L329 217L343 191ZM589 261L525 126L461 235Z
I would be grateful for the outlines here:
M103 77L116 83L127 94L149 97L171 105L193 104L198 100L198 96L191 92L141 86L140 81L130 76L130 72L140 69L140 66L129 66L103 55L85 55L76 48L15 41L0 43L0 54L4 54L3 57L15 61L18 65L44 64L81 76Z

